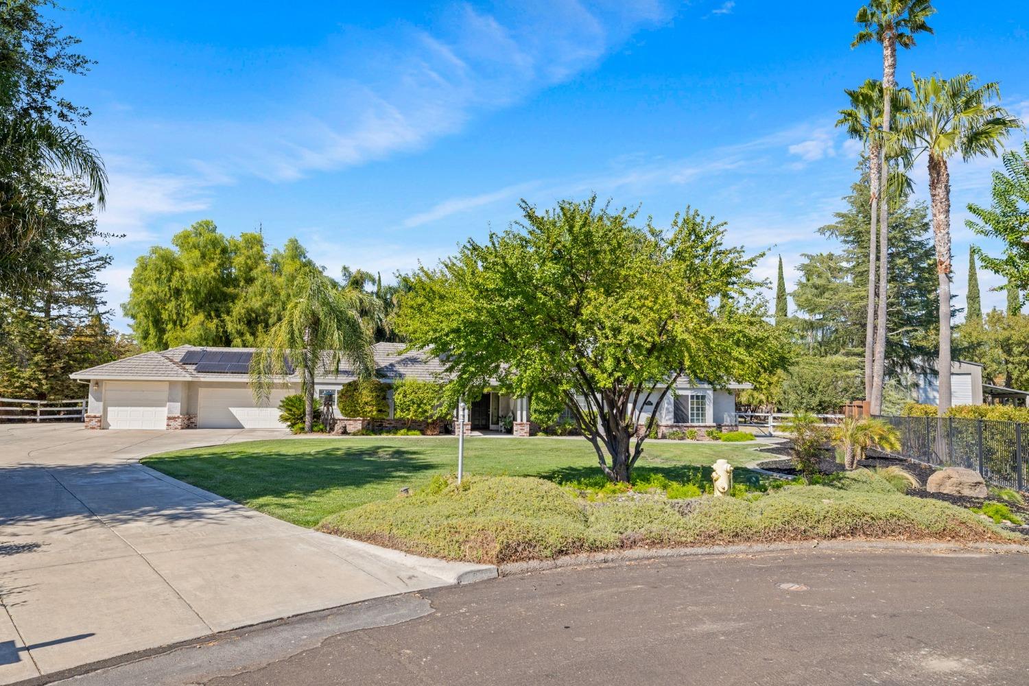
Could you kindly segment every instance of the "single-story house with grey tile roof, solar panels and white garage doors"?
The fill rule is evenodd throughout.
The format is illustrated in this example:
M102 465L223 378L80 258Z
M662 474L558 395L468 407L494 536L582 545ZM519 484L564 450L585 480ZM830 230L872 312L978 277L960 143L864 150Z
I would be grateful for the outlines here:
M416 377L438 381L445 373L440 361L419 351L403 352L404 344L375 345L377 375L385 384L398 378ZM143 353L101 364L71 374L88 384L85 426L88 429L279 429L278 404L283 397L299 393L296 374L272 390L265 402L254 400L249 384L252 348L198 348L178 346L162 352ZM321 369L315 376L315 390L324 401L355 378L341 369ZM749 388L734 384L715 389L708 384L680 381L660 407L657 397L644 401L644 416L657 410L659 431L697 428L736 428L735 391ZM392 390L388 390L393 420ZM339 410L336 410L339 413ZM467 428L499 430L501 418L511 417L517 436L528 436L538 429L530 421L529 400L488 390L469 403ZM389 421L387 421L389 422ZM401 421L396 421L400 424ZM388 426L388 424L387 424Z

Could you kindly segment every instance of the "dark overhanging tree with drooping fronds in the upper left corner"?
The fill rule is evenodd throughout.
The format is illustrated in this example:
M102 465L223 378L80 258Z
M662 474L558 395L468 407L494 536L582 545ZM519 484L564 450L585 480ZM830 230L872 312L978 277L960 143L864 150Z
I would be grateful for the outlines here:
M91 63L74 51L78 39L41 15L49 4L0 4L0 292L50 276L47 252L63 237L46 213L46 181L55 174L80 180L100 205L107 185L100 155L75 129L88 110L58 93Z

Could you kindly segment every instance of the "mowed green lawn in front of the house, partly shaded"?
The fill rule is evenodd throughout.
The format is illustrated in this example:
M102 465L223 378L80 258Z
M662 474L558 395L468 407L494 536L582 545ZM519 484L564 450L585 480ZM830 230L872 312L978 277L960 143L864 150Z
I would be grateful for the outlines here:
M720 443L650 443L634 474L678 482L710 480L720 458L735 467L758 459L752 446ZM146 466L169 476L301 527L365 503L393 498L403 486L418 490L436 474L457 470L456 438L285 439L229 443L165 453ZM597 456L584 439L471 438L465 441L465 472L490 476L539 476L569 482L600 475ZM757 483L746 469L737 482Z

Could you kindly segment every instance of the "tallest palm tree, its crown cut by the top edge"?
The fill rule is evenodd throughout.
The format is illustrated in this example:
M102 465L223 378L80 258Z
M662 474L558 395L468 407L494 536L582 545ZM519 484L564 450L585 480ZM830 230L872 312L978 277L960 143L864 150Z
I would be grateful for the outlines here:
M876 41L883 46L883 118L884 138L892 122L891 105L896 88L897 45L904 49L915 46L915 35L932 33L926 20L935 13L931 0L871 0L857 10L855 22L862 29L854 36L851 47ZM886 197L889 181L889 158L880 151L880 183L884 187L879 197ZM874 369L872 376L872 411L879 413L883 405L883 382L886 372L886 259L889 228L889 204L879 204L879 303L876 310Z

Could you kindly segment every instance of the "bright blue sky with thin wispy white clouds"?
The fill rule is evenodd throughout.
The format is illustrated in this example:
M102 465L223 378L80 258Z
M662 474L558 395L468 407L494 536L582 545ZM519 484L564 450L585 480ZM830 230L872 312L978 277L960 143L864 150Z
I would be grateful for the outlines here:
M876 46L849 47L851 1L65 4L99 62L67 95L93 109L111 175L101 225L127 234L105 274L114 305L136 257L198 219L385 277L504 228L519 197L591 192L659 223L713 215L771 251L760 276L782 254L791 283L801 253L832 249L815 230L855 178L832 127L843 88L881 73ZM934 4L901 83L972 72L1029 119L1025 1ZM954 166L960 296L964 208L988 202L997 164ZM916 181L924 196L923 164Z

